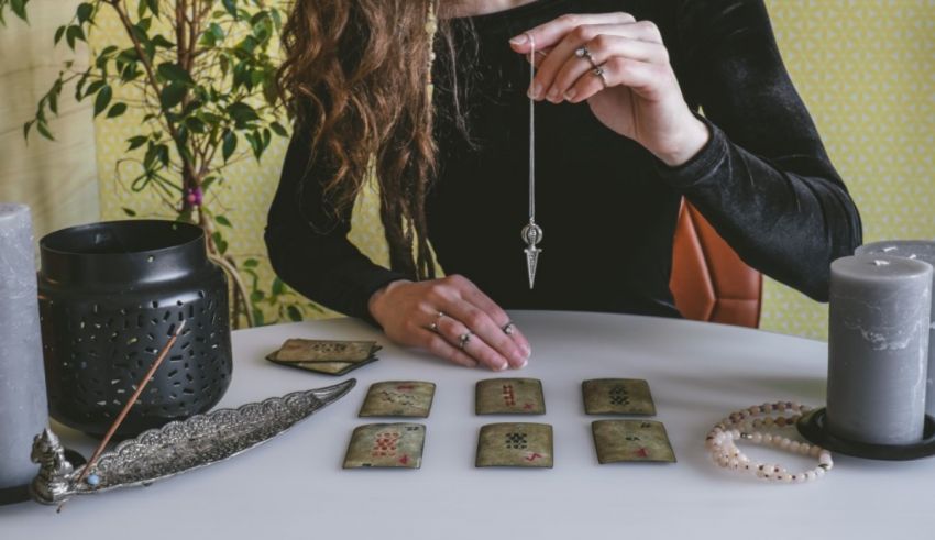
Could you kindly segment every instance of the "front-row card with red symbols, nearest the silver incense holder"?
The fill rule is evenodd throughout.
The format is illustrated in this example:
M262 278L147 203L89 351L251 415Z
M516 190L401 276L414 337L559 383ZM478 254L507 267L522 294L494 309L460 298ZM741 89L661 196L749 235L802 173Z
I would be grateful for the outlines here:
M369 423L354 430L344 469L419 469L426 427L421 423Z

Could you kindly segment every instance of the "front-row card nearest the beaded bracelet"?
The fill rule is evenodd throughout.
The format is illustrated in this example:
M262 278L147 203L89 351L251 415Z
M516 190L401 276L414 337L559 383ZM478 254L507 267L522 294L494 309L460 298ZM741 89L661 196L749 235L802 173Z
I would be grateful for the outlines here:
M596 420L591 423L597 461L675 462L675 452L662 422L652 420Z

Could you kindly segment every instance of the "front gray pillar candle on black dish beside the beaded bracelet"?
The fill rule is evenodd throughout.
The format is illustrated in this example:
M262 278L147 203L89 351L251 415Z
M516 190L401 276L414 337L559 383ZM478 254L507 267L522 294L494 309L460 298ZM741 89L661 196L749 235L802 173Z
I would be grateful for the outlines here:
M922 440L932 266L891 256L832 263L827 428L855 442Z

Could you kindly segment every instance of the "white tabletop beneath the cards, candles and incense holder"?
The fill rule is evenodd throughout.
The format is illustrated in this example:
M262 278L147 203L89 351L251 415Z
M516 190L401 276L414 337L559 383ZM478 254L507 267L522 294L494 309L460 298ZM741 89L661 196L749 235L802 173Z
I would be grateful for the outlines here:
M234 332L232 407L350 377L358 386L289 432L230 461L148 487L76 497L61 514L0 507L0 538L933 538L935 462L835 456L811 484L773 485L719 470L704 438L727 412L763 401L821 405L825 343L762 331L619 315L514 312L532 343L529 365L493 374L388 344L360 321L336 319ZM263 357L288 338L377 339L381 361L341 378ZM542 381L544 416L474 415L474 383ZM649 382L675 464L600 465L581 382ZM420 470L343 470L371 383L437 384ZM551 470L475 469L481 426L537 421L554 429ZM399 420L405 421L405 420ZM61 428L87 454L89 440ZM748 448L754 459L811 469L813 461ZM602 536L603 535L603 536ZM632 535L640 535L636 537Z

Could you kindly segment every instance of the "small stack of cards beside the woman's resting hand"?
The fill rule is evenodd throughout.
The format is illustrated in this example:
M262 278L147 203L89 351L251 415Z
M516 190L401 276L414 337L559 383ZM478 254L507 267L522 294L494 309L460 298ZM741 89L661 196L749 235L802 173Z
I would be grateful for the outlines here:
M266 356L280 365L324 375L340 376L376 362L382 348L375 341L336 341L290 339Z

